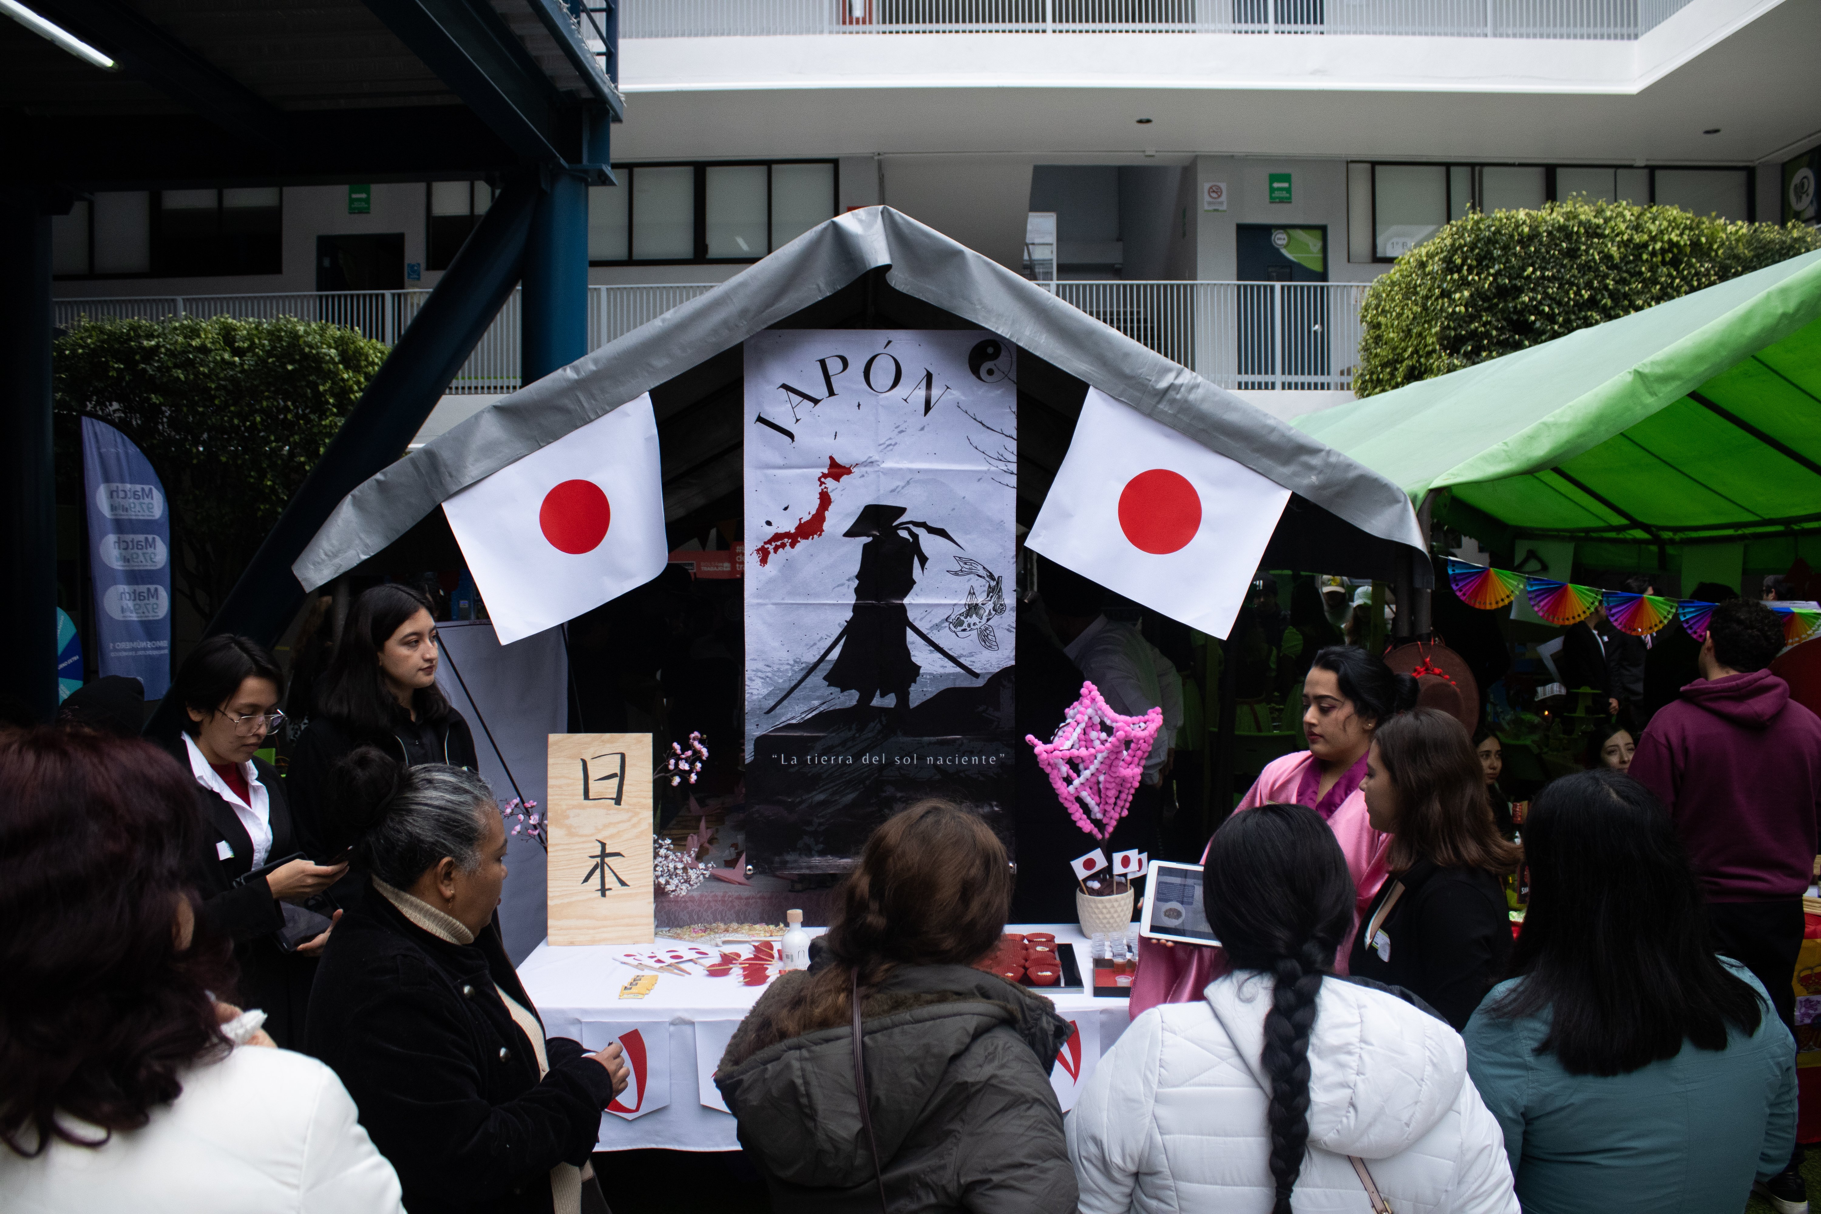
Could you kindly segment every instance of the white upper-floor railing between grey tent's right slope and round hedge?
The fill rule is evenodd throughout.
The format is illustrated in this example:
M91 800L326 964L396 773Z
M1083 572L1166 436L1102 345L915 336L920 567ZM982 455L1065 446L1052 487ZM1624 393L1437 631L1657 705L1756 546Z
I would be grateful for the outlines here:
M1056 282L1074 304L1240 391L1351 391L1364 282Z

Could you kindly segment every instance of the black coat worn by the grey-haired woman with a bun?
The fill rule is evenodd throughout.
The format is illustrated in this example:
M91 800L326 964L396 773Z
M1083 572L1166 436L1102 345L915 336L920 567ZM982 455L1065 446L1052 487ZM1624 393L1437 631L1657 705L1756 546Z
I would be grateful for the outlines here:
M341 1076L412 1214L548 1214L550 1168L588 1161L614 1099L568 1037L546 1039L539 1079L495 983L535 1016L497 923L452 945L373 890L322 954L304 1048Z

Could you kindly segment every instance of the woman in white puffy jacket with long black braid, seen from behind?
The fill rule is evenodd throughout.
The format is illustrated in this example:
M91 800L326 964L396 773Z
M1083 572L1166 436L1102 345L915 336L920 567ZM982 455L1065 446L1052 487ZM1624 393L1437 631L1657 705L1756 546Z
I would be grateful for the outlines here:
M1083 1214L1517 1214L1460 1036L1393 988L1335 977L1353 881L1298 804L1235 814L1204 868L1233 968L1144 1012L1069 1114Z

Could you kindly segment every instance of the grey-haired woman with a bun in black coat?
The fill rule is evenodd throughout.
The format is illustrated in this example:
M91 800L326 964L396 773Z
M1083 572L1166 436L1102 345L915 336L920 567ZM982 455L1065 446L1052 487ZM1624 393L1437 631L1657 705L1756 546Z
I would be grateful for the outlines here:
M617 1043L546 1037L506 959L506 832L486 781L364 746L335 792L373 888L330 937L306 1045L353 1096L404 1209L603 1209L585 1165L626 1065Z

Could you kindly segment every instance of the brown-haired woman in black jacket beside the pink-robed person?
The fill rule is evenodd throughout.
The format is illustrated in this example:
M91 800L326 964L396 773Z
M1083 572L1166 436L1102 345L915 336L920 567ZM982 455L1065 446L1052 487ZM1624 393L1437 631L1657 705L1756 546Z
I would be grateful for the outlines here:
M1460 1030L1511 956L1501 877L1521 852L1493 825L1486 768L1464 724L1415 708L1373 733L1360 792L1373 828L1391 835L1391 875L1348 972L1415 992Z

